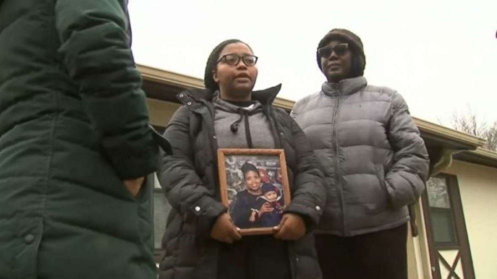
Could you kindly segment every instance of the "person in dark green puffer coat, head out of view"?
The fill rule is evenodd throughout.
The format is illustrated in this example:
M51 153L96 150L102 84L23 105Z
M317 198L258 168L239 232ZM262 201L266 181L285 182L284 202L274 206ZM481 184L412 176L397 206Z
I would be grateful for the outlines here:
M168 143L129 30L124 0L0 0L0 278L156 277L142 182Z

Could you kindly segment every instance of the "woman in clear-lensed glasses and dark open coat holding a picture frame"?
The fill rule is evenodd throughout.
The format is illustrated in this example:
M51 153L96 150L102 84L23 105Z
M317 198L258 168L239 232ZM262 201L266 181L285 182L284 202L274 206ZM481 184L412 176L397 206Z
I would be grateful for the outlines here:
M325 202L322 173L303 131L272 105L280 85L253 91L257 61L246 43L223 41L207 59L206 89L178 94L183 105L165 130L173 154L159 172L172 206L161 279L321 278L310 232ZM292 202L274 235L240 236L220 202L218 148L285 150Z

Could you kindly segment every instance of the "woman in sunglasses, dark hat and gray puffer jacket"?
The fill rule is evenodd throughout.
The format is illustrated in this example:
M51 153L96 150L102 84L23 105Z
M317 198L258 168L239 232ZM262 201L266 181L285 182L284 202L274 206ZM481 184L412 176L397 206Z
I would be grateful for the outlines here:
M407 278L407 205L428 174L428 154L395 90L368 85L361 39L331 30L318 65L328 81L292 116L326 176L327 205L316 230L324 278Z

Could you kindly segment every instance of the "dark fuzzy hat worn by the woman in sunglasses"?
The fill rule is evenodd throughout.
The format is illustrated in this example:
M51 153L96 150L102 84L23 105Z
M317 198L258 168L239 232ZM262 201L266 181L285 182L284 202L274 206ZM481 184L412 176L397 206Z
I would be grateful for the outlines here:
M362 44L361 38L347 29L335 28L329 31L318 44L318 49L325 46L331 40L340 40L343 42L348 42L352 50L352 73L351 77L361 76L364 74L364 68L366 67L366 55L364 54L364 46ZM316 52L316 59L318 61L318 66L321 70L321 56Z

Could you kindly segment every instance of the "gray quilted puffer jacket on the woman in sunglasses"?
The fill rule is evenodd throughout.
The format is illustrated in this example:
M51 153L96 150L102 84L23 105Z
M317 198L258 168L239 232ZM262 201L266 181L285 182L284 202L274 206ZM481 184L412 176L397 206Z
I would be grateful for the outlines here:
M325 82L292 116L326 175L317 233L353 236L396 227L424 190L428 154L407 104L364 77Z

